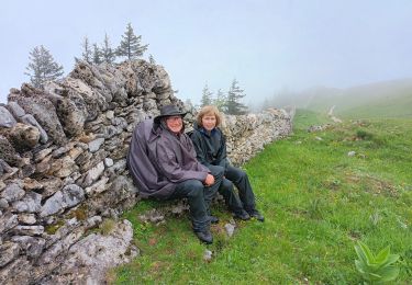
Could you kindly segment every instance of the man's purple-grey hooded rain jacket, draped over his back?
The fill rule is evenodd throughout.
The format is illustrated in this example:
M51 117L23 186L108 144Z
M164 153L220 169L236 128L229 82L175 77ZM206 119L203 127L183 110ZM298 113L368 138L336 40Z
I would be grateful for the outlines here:
M175 135L153 119L140 123L133 132L127 166L143 197L168 198L186 180L204 181L208 168L199 163L192 141Z

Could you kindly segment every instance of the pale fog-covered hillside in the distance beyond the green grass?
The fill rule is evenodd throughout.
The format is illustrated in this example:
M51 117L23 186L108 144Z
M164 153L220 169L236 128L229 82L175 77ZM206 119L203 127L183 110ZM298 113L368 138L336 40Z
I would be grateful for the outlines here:
M348 89L313 88L289 96L290 104L342 117L412 117L412 79L377 82Z

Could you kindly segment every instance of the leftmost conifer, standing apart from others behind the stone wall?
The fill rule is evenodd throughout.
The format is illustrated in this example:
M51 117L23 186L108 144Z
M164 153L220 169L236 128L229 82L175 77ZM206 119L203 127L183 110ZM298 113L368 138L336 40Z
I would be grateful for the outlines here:
M26 67L30 81L36 88L43 89L46 81L56 80L63 76L63 66L59 66L52 54L43 46L36 46L30 53L30 64Z

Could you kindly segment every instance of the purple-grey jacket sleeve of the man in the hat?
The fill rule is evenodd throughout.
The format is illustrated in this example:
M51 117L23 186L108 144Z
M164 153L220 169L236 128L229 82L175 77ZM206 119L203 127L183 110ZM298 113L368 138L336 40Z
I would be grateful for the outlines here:
M172 183L180 183L186 180L194 179L199 181L204 181L208 172L197 171L197 170L185 170L178 163L176 153L169 146L164 144L158 144L157 148L157 164L163 174Z

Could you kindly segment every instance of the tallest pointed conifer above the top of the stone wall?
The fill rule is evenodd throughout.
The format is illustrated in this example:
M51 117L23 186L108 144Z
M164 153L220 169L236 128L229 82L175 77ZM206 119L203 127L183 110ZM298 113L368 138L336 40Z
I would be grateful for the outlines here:
M122 35L122 41L118 47L118 56L127 57L129 60L143 56L148 45L141 44L142 36L136 36L133 32L132 24L129 23L126 32Z

